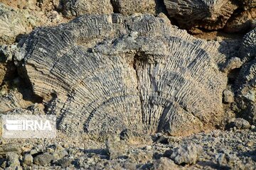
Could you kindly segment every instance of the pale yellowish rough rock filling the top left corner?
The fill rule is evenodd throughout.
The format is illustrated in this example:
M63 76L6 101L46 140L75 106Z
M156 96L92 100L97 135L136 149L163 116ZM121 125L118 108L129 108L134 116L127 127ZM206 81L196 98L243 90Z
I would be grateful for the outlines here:
M48 9L39 8L36 1L30 2L24 3L23 8L12 8L0 2L0 45L11 44L18 35L30 33L36 26L53 26L65 21L53 10L54 6ZM43 4L48 4L48 1L44 1Z

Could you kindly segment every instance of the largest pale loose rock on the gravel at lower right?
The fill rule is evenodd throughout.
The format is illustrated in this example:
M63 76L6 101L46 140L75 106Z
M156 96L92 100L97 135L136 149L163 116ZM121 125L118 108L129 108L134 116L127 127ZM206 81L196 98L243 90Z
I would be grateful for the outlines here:
M171 159L176 164L196 164L203 148L199 145L188 144L176 147L171 154Z

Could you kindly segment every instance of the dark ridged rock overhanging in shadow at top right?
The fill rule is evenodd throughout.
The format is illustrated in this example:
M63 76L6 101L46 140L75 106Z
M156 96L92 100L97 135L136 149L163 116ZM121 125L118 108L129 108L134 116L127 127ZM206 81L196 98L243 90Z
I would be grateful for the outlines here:
M176 18L181 28L217 30L238 8L230 0L164 0L169 16Z

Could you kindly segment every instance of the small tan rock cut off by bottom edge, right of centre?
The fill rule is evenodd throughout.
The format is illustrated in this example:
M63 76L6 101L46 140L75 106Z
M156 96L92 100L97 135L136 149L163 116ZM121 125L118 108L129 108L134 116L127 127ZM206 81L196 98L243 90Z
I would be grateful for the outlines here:
M161 157L160 159L154 162L154 169L173 170L173 169L178 169L178 165L176 165L171 159L168 159L166 157Z

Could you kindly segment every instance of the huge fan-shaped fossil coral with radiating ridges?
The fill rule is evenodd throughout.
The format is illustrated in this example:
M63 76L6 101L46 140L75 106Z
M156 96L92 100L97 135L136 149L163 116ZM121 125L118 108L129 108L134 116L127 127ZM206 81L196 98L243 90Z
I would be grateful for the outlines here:
M169 27L154 16L114 14L39 28L23 45L24 69L36 95L54 96L49 113L67 133L213 128L223 120L221 55Z

